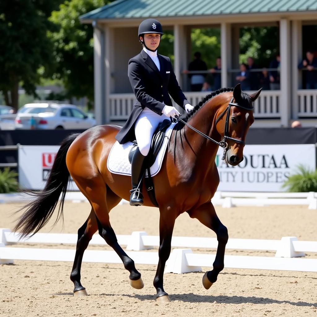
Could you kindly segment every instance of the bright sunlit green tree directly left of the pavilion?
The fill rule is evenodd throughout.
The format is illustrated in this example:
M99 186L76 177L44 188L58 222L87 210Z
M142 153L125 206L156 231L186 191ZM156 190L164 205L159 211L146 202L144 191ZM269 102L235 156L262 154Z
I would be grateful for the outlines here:
M109 3L107 0L72 0L60 5L50 21L59 30L49 32L54 42L54 78L63 81L66 98L94 100L94 43L91 25L81 24L79 16Z

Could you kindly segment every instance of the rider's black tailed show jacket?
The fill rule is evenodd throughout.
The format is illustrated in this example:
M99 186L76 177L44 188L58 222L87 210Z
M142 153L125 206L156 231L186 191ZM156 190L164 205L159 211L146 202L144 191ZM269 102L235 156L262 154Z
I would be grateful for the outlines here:
M145 107L162 115L164 106L172 105L169 94L183 109L189 103L178 85L170 59L159 54L158 58L160 70L144 50L129 61L128 77L137 100L128 120L115 137L120 144L135 139L134 124Z

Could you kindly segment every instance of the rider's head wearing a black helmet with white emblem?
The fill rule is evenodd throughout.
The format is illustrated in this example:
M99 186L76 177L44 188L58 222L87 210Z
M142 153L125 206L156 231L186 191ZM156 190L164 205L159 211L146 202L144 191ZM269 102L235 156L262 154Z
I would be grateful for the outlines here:
M155 19L146 19L139 25L139 41L152 52L159 47L159 42L163 34L161 23Z

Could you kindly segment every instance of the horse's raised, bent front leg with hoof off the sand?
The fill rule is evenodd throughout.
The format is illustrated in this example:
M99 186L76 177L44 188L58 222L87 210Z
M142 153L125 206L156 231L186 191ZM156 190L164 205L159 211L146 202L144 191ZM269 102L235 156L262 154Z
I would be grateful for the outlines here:
M201 223L216 232L218 248L212 271L207 271L203 277L204 288L208 289L217 281L217 276L224 268L224 251L228 242L228 230L219 220L213 204L206 203L195 210L189 210L191 218L197 218Z

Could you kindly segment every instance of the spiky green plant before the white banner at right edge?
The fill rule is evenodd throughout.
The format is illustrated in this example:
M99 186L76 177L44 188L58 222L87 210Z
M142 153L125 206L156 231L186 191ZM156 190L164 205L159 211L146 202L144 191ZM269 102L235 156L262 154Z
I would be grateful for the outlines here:
M290 192L317 191L317 170L310 171L304 165L297 167L297 173L288 177L283 188Z

